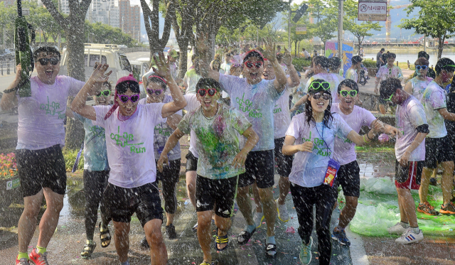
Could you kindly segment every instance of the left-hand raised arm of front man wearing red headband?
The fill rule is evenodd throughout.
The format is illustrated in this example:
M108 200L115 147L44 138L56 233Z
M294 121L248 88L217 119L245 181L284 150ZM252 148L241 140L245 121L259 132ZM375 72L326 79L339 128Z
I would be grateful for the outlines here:
M73 109L73 112L76 112L77 114L80 114L80 116L87 119L91 119L92 121L97 120L95 108L86 104L87 96L90 94L96 94L100 87L99 83L102 84L109 79L109 75L112 71L105 74L108 67L109 65L99 64L96 69L93 70L89 80L85 83L79 93L77 93L71 103L71 109Z

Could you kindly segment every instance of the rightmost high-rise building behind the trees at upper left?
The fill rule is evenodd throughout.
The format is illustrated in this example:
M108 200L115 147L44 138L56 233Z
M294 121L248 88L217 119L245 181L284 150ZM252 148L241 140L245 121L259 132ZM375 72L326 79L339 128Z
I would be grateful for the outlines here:
M120 28L124 33L134 39L140 38L141 32L141 7L131 6L129 0L119 0Z

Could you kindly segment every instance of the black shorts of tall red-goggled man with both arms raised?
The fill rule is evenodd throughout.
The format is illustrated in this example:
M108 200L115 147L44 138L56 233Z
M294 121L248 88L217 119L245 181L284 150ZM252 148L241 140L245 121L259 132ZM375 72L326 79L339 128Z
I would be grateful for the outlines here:
M239 187L256 182L257 188L270 188L274 185L274 150L252 151L245 161L245 173L239 175Z

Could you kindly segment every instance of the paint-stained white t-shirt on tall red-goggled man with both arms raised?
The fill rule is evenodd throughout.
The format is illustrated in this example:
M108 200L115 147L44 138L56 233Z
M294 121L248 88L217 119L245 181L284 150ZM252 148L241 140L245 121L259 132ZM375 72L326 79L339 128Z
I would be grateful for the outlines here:
M230 106L238 109L253 126L259 141L252 151L274 149L273 110L282 95L273 85L273 80L262 80L249 85L246 78L220 75L220 84L230 94ZM245 137L240 137L240 148L245 146Z

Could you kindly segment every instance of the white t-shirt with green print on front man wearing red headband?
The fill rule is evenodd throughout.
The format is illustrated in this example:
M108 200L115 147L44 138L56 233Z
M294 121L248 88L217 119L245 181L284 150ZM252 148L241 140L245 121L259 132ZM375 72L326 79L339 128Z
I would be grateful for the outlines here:
M106 130L109 183L122 188L136 188L156 180L154 131L156 124L166 122L161 116L164 103L138 104L126 121L117 117L119 108L105 120L112 106L94 106L93 124Z

